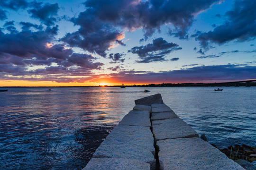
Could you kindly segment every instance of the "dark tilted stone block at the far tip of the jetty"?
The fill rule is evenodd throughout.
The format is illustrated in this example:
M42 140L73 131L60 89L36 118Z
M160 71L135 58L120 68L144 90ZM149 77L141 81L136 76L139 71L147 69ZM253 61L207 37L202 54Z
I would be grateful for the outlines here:
M144 97L141 99L137 99L134 102L136 105L141 104L141 105L147 105L147 106L151 106L151 104L154 104L154 103L159 103L159 104L164 103L162 96L159 93L155 94L155 95L148 96L148 97Z

